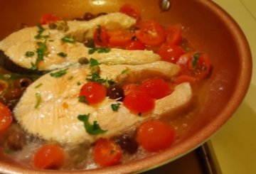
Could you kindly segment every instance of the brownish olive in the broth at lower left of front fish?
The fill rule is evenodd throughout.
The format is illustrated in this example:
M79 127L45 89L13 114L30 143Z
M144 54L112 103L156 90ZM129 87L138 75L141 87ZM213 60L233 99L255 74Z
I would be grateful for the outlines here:
M6 143L11 150L21 150L26 144L26 136L21 132L14 131L7 137Z

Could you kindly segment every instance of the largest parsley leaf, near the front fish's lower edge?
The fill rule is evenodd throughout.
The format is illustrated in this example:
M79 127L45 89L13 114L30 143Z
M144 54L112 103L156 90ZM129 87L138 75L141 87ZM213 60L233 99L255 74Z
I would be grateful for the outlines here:
M85 126L85 131L90 135L103 134L107 130L102 130L97 121L93 121L93 124L89 122L90 114L78 115L78 119L83 122Z

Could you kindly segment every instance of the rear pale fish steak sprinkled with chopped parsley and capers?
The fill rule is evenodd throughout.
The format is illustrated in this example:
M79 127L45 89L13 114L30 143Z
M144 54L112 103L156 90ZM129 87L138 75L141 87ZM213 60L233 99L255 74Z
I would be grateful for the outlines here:
M109 13L90 21L60 21L60 23L60 26L63 25L61 30L50 28L49 25L33 26L16 31L1 40L0 65L6 68L9 67L7 65L18 65L26 69L47 71L73 65L82 57L95 58L105 64L130 65L160 59L159 55L151 50L112 48L103 51L104 53L100 51L89 53L92 49L81 43L82 40L93 38L98 26L105 26L110 30L133 26L136 20L123 13Z

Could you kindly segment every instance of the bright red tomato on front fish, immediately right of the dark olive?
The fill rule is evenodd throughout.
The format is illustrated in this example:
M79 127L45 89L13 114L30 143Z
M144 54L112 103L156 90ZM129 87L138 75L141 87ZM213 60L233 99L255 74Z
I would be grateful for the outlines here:
M134 90L124 97L124 107L136 114L150 112L154 109L154 99L146 92Z

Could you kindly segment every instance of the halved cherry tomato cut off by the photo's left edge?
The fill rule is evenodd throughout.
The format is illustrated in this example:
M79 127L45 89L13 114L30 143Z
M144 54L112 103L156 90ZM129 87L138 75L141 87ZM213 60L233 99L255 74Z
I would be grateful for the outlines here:
M0 133L6 131L13 121L11 110L0 102Z

